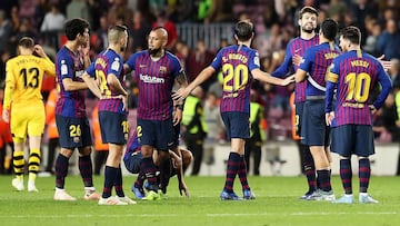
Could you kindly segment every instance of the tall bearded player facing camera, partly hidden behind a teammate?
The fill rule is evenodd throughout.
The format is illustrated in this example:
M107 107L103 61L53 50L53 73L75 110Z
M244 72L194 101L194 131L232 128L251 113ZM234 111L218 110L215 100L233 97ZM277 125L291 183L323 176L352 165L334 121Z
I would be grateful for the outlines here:
M282 78L290 72L291 68L293 68L296 72L306 50L318 45L319 38L316 33L317 19L318 11L314 8L303 7L300 10L298 21L300 26L300 37L290 40L287 47L284 60L282 65L272 72L272 76ZM296 82L294 86L296 132L299 137L301 136L301 124L303 118L302 112L306 101L306 80L302 82ZM307 199L313 194L313 191L316 191L316 166L309 147L301 143L299 147L303 159L302 167L309 185L308 191L300 198Z

